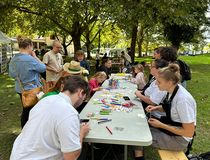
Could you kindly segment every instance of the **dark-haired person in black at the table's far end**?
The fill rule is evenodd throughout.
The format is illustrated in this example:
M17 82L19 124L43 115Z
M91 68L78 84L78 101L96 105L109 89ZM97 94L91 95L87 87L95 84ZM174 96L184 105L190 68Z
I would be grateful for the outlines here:
M108 79L109 76L112 73L111 67L112 67L112 61L109 58L102 59L102 64L98 68L98 71L104 71L106 73L106 76L107 76L107 79Z

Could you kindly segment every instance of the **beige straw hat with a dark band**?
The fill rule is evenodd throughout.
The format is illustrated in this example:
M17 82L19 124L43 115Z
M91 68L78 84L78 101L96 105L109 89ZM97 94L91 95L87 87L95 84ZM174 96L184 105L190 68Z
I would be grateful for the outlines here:
M63 65L63 70L70 74L79 74L82 72L82 67L80 67L79 62L71 61L70 63L65 63Z

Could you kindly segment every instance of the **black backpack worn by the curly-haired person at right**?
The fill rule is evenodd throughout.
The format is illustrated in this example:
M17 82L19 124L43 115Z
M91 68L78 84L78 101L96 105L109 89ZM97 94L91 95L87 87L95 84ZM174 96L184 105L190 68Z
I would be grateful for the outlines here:
M180 59L177 59L177 63L180 67L180 74L182 76L182 82L191 80L191 70L190 70L189 65Z

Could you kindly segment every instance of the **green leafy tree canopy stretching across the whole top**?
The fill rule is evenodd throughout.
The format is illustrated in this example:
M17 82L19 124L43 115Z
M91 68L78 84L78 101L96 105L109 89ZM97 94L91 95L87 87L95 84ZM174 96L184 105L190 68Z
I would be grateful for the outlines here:
M2 0L0 29L11 35L52 32L63 39L70 36L75 51L84 41L88 52L96 46L99 33L102 44L112 46L119 42L116 32L121 32L118 35L131 41L134 59L137 40L141 46L148 35L165 36L177 47L190 42L208 22L208 4L209 0Z

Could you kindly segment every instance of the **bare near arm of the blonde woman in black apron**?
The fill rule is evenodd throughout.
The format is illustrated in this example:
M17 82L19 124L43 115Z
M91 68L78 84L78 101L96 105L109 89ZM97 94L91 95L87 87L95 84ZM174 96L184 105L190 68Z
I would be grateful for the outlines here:
M150 118L148 123L155 127L155 128L162 128L168 130L174 134L185 136L185 137L192 137L195 132L195 125L194 122L192 123L182 123L181 127L171 126L168 124L164 124L157 119Z

